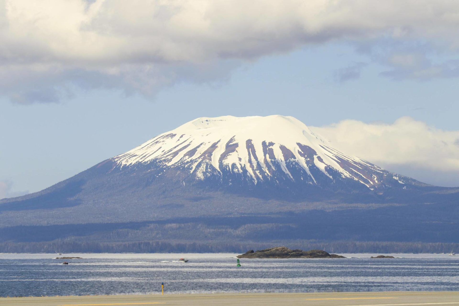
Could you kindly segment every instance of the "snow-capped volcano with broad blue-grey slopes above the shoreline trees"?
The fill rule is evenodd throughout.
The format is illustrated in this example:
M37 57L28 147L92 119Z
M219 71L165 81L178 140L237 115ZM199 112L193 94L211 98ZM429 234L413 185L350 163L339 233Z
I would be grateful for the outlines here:
M0 243L456 242L458 200L457 188L333 149L293 117L198 118L38 193L0 200Z

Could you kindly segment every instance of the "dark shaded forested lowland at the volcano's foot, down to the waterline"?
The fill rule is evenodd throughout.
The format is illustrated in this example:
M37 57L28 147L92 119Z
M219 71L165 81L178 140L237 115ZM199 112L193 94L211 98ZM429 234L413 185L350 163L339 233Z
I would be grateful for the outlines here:
M450 210L443 216L448 206L436 211L430 208L383 206L264 216L12 226L0 228L0 252L241 252L273 245L341 252L456 250L457 212ZM441 223L433 221L440 219Z

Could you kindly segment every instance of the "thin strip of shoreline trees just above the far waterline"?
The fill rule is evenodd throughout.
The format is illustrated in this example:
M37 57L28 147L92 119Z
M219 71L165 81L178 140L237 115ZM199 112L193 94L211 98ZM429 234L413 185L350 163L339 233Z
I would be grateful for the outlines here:
M459 250L458 243L424 242L318 242L310 240L273 241L269 243L242 242L184 242L184 241L138 241L138 242L3 242L2 253L243 253L273 246L291 249L326 250L330 253L448 253Z

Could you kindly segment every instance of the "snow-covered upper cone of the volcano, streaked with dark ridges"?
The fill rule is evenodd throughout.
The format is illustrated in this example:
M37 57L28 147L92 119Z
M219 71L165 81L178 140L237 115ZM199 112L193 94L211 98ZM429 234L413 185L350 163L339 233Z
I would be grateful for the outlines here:
M375 190L420 184L347 156L301 121L279 115L201 117L113 160L121 168L151 164L223 186L306 184Z

